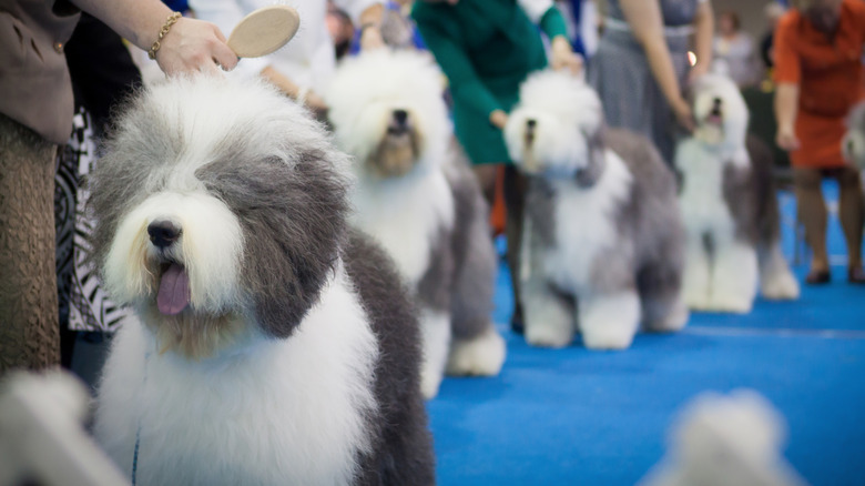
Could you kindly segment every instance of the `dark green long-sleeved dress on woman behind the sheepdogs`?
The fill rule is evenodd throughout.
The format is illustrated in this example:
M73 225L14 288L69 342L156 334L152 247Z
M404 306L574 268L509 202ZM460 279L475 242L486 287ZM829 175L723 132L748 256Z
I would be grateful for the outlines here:
M501 130L489 122L493 110L510 111L519 85L547 67L538 27L517 0L416 1L411 17L450 83L457 138L475 164L509 162ZM540 19L550 38L567 36L554 7Z

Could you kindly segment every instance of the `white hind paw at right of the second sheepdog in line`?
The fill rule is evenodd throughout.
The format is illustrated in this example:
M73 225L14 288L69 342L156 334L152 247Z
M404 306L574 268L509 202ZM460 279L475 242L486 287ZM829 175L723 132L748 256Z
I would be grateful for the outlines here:
M447 374L451 376L496 376L505 363L505 340L490 325L474 340L454 340Z

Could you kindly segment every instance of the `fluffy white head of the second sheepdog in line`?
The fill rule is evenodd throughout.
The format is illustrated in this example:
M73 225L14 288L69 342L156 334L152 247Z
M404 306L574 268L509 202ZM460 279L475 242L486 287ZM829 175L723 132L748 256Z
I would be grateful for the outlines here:
M328 117L359 173L399 178L440 161L450 133L440 80L431 60L408 51L367 52L339 67Z

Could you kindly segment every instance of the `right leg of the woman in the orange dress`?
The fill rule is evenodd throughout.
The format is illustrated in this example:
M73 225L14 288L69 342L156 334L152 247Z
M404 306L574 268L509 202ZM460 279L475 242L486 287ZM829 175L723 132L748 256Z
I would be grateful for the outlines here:
M863 195L859 172L853 168L839 169L836 178L841 188L838 216L847 242L849 280L865 283L862 272Z

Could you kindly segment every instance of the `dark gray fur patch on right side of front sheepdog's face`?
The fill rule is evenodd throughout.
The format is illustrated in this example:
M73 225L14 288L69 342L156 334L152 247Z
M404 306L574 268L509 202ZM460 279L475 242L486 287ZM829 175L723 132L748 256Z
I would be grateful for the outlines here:
M311 150L289 166L281 160L225 159L196 176L237 216L244 287L262 328L287 337L334 270L348 210L345 181Z

